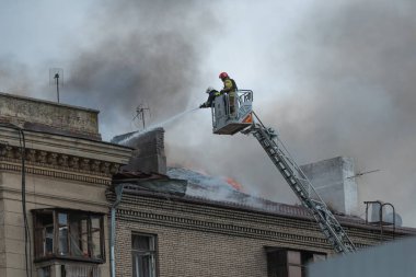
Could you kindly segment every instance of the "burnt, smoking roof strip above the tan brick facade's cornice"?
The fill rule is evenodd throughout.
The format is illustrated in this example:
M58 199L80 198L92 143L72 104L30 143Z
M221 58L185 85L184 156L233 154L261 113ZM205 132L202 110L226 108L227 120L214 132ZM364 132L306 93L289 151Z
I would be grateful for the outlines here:
M123 184L124 192L134 195L169 198L170 200L273 213L290 218L313 219L310 211L300 205L275 203L244 194L230 187L222 187L222 189L228 192L228 197L215 198L210 192L219 189L218 187L221 187L220 185L213 184L212 187L207 187L204 183L195 182L195 176L190 180L181 180L171 178L170 175L177 176L176 174L170 174L170 171L167 175L160 173L120 172L114 176L113 187ZM195 194L195 191L198 189L203 192L200 195ZM379 230L378 226L368 224L362 218L338 212L334 212L334 215L343 224ZM385 230L390 229L391 228L385 227ZM401 233L416 233L415 228L396 227L395 230Z

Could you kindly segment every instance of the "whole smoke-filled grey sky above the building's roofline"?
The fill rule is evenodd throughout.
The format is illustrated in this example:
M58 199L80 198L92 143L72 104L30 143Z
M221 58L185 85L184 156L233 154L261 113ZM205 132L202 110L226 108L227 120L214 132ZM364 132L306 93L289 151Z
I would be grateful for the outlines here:
M105 140L206 100L228 71L300 164L353 157L360 201L393 203L416 227L416 3L349 1L11 1L0 5L0 91L99 108ZM210 112L166 129L171 164L228 175L293 204L253 138L211 134ZM361 204L362 207L362 204Z

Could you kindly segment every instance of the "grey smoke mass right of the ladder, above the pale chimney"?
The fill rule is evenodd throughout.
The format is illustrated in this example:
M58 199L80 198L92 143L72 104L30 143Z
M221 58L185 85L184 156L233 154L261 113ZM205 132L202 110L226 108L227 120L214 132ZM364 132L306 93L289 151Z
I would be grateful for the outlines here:
M297 90L276 104L297 157L345 154L356 159L358 170L382 170L358 180L361 200L392 201L412 224L415 13L414 1L316 4L293 34Z

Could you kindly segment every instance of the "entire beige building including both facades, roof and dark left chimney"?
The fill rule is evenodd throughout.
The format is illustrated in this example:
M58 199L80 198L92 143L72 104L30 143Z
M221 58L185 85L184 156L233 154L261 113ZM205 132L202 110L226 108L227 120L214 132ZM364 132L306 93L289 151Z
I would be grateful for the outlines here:
M189 194L211 188L164 174L163 129L108 143L97 114L0 93L1 277L298 277L334 254L304 208ZM415 234L337 218L358 247Z

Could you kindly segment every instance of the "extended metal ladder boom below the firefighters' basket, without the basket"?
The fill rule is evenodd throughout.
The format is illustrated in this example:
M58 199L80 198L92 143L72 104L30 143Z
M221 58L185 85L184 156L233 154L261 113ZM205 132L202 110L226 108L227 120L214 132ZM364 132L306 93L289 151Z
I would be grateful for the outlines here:
M275 131L271 128L266 128L263 124L253 123L241 132L245 135L252 134L258 140L301 204L313 215L334 250L337 253L355 252L356 247L354 243L325 203L316 194L311 182L300 166L296 164Z

